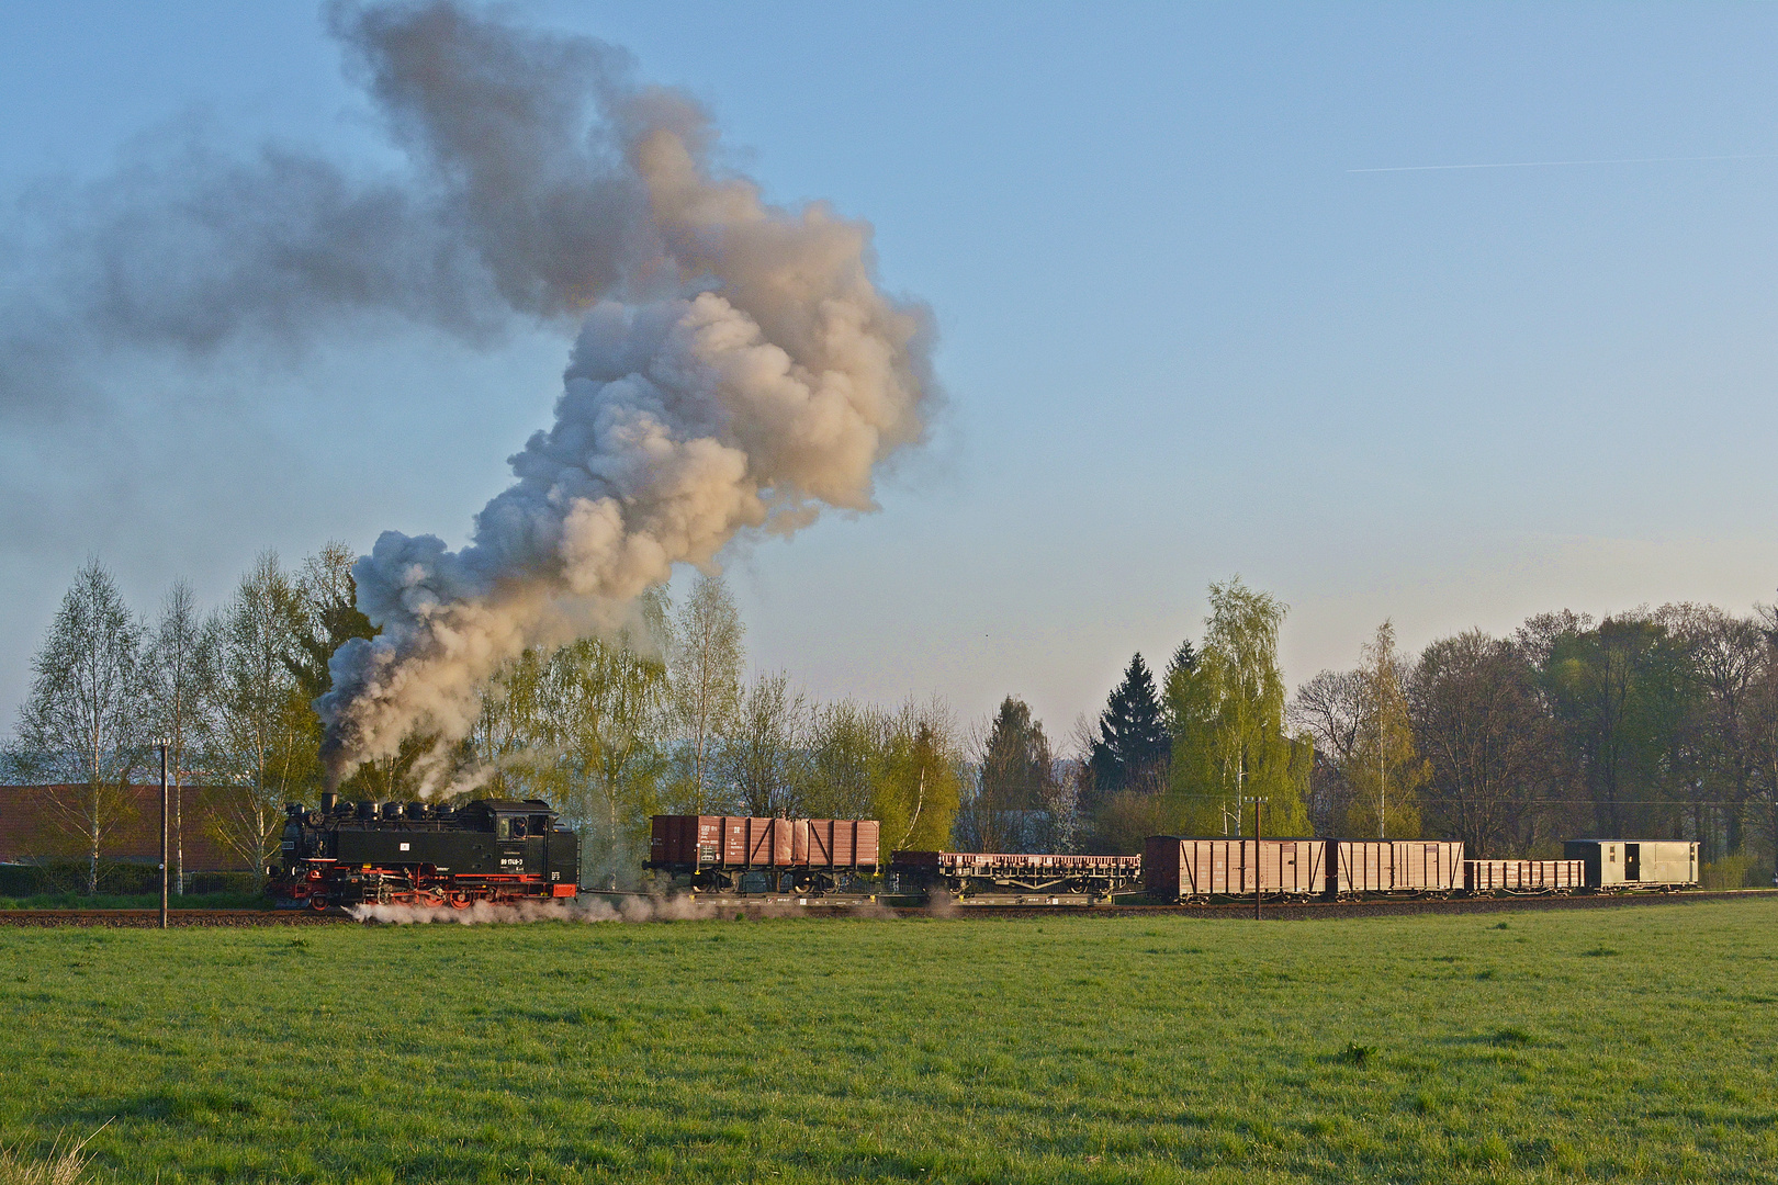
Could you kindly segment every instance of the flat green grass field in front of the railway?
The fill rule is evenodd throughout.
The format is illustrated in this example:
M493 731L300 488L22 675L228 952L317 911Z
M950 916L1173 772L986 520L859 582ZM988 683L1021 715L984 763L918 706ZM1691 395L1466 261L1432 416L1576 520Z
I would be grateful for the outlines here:
M98 1181L1769 1181L1778 903L0 931Z

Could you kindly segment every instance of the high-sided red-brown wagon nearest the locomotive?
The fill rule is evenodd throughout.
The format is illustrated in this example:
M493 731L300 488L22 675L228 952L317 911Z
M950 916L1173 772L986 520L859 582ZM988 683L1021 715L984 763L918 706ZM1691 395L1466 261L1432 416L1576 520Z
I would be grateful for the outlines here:
M645 869L699 892L853 892L877 876L877 819L654 815Z

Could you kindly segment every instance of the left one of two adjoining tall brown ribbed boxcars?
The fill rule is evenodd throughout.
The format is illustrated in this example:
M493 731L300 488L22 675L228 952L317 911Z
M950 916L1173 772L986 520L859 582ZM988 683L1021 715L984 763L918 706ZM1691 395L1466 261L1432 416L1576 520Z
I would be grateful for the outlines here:
M1193 839L1150 835L1143 842L1143 888L1156 901L1211 897L1317 897L1326 885L1326 840Z

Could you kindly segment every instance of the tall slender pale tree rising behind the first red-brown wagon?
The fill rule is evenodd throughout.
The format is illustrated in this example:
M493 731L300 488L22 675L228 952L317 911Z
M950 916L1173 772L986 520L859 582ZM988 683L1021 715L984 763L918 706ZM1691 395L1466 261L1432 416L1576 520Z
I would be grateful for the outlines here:
M722 576L701 572L672 627L672 704L690 760L690 808L704 812L711 752L741 704L745 627Z

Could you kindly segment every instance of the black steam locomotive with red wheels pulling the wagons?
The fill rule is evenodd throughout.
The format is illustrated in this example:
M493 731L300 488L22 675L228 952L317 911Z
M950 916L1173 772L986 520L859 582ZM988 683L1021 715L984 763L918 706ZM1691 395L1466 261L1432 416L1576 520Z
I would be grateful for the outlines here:
M541 799L341 803L284 807L281 869L270 892L284 910L354 904L510 904L573 897L580 837Z

